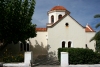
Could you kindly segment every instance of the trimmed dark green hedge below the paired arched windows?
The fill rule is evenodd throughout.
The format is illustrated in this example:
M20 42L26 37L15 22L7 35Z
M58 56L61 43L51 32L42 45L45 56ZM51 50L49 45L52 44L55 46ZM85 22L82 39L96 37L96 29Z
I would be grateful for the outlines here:
M61 52L69 53L69 64L98 64L100 62L100 54L93 52L91 49L59 48L59 61Z

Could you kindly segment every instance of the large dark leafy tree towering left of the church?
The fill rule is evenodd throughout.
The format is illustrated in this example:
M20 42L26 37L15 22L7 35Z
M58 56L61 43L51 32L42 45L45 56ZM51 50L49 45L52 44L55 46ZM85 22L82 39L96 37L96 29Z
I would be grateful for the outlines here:
M34 9L35 0L0 0L1 49L36 36L36 25L31 22Z

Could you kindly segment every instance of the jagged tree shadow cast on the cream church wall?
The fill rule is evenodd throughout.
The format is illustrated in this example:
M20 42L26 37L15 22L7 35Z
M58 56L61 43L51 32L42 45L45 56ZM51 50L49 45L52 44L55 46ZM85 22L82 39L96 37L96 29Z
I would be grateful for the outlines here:
M31 44L31 42L30 42ZM41 58L43 59L45 57L45 59L49 59L49 60L56 60L56 52L55 51L51 51L48 52L50 49L50 45L44 46L43 42L41 42L41 44L38 43L37 40L35 40L35 45L30 45L30 51L33 51L33 60L37 59L37 58Z

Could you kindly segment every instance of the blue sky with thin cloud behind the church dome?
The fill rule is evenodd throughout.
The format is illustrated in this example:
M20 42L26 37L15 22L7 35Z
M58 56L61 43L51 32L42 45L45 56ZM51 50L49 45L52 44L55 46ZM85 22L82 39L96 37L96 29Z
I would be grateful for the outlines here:
M83 26L88 23L95 29L95 25L100 22L99 18L94 18L95 14L100 14L100 0L36 0L32 23L37 27L46 27L47 12L57 5L64 6L71 12L70 15Z

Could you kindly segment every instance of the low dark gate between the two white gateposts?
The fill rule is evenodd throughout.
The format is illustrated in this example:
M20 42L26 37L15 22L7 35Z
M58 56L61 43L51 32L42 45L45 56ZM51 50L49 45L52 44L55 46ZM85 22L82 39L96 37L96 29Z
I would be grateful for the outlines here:
M35 65L60 65L60 62L57 60L56 57L52 57L48 55L39 55L35 61Z

